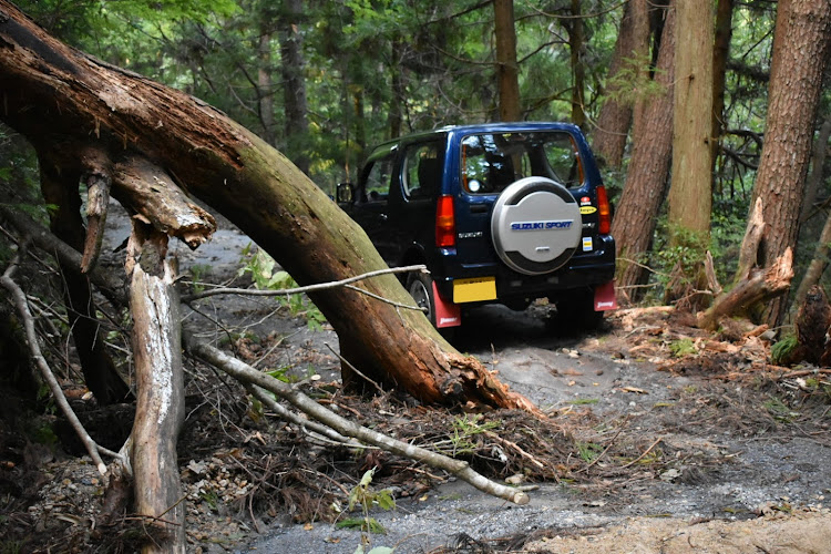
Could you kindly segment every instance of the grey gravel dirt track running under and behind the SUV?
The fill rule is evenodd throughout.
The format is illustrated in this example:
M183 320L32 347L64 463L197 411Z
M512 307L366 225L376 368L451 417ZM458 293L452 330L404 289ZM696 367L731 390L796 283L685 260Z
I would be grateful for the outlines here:
M226 278L247 244L223 225L197 253L178 247L176 254L183 273L196 267L206 280ZM330 330L311 331L261 301L236 299L212 309L258 336L281 334L286 363L338 378L329 350L338 341ZM387 534L371 535L371 546L394 546L397 553L488 552L485 546L831 552L824 509L831 494L831 392L807 393L800 390L804 379L779 379L783 370L766 363L769 346L743 336L745 329L706 336L666 311L622 310L601 332L574 336L547 325L547 311L473 309L454 345L562 422L575 444L585 445L568 462L591 468L594 476L534 484L525 506L445 480L399 499L394 511L373 511ZM247 534L245 546L234 551L351 553L361 544L360 532L335 524L274 521L283 523ZM470 550L476 542L480 550ZM228 547L206 541L194 543L193 552Z

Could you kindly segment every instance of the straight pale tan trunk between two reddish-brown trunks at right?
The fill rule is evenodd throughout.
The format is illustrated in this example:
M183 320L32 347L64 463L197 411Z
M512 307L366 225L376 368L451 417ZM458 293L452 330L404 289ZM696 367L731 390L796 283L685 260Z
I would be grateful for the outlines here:
M669 290L667 300L688 298L700 307L705 299L689 297L707 278L704 259L709 246L712 206L712 48L714 13L710 0L676 3L676 49L673 122L673 182L669 187L669 244L684 247L695 258L691 267L679 261L684 284Z

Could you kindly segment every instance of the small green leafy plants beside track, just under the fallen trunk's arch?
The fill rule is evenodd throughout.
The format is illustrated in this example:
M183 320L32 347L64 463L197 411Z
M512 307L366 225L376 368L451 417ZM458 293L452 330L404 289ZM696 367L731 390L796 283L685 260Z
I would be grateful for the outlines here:
M258 289L290 290L298 286L288 273L276 270L277 263L271 256L250 244L243 249L240 263L243 266L237 270L237 275L250 275L254 286ZM278 298L283 306L288 307L293 316L305 318L309 329L322 329L326 316L306 295L287 294Z

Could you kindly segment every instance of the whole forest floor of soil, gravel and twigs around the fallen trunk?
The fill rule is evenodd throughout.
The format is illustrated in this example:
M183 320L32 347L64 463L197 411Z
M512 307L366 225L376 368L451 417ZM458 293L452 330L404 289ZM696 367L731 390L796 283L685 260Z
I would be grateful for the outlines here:
M109 225L119 244L123 220ZM235 278L248 240L223 225L198 255L177 247L183 275ZM120 270L119 256L109 259ZM301 381L356 421L529 486L532 500L505 504L430 468L309 438L188 360L179 466L189 552L831 552L831 383L818 368L770 366L761 329L705 334L656 308L618 310L578 335L544 305L465 311L454 345L536 402L548 416L540 422L351 397L338 382L337 337L312 330L305 308L246 297L192 307L185 325L202 339ZM117 450L130 407L102 410L82 392L73 406ZM2 429L3 552L132 552L143 527L106 513L107 478L76 456L60 418L39 418L61 445ZM348 513L373 468L371 491L392 491L396 510ZM369 520L386 534L361 532Z

